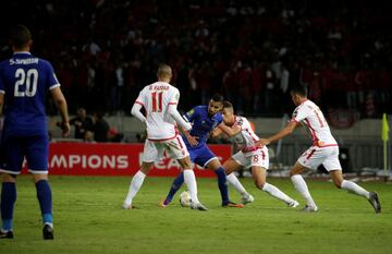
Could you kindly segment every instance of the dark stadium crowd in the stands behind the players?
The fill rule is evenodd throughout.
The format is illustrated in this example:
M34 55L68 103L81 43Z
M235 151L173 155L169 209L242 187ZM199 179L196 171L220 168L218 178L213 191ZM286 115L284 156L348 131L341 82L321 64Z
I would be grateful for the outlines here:
M392 113L389 9L366 0L109 1L32 0L19 10L33 53L50 60L70 112L130 113L160 62L174 69L181 109L222 93L246 116L291 112L287 90L302 82L327 112ZM34 12L32 12L34 10ZM0 58L10 55L1 37ZM50 104L50 100L49 100ZM56 113L52 107L51 112Z

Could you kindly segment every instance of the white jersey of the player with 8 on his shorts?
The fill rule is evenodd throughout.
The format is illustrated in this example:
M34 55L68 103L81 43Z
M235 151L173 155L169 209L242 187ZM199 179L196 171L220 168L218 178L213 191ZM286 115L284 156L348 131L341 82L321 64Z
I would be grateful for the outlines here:
M244 117L235 116L233 125L241 126L241 132L232 137L232 142L236 145L241 145L240 149L245 154L257 150L255 143L259 137L252 129L249 121Z

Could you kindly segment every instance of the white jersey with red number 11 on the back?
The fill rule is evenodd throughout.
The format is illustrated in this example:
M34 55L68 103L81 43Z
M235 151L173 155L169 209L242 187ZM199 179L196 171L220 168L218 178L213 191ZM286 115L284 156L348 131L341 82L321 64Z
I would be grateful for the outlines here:
M179 99L179 89L169 83L156 82L143 88L135 104L146 110L148 140L164 141L176 136L175 121L169 113L169 107L176 107Z

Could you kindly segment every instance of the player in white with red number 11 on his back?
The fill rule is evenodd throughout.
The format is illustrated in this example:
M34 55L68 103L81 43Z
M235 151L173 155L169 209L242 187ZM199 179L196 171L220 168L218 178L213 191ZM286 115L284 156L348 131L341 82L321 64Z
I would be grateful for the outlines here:
M172 78L171 68L161 64L157 76L158 82L144 87L132 107L132 114L147 125L147 140L144 146L142 169L131 181L123 208L134 208L133 198L142 188L143 181L152 168L154 162L162 157L166 149L170 157L177 159L183 169L184 181L192 197L191 208L207 210L197 198L196 178L192 169L189 153L175 129L175 123L185 131L189 131L192 125L181 117L176 109L180 92L169 84ZM147 117L140 112L142 107L145 108Z

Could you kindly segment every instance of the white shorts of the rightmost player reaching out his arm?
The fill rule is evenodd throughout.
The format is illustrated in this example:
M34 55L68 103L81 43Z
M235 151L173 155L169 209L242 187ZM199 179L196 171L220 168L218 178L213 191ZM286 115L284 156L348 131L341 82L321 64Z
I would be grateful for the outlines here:
M339 161L339 146L311 146L298 158L298 162L309 169L317 169L321 164L327 171L342 170Z

